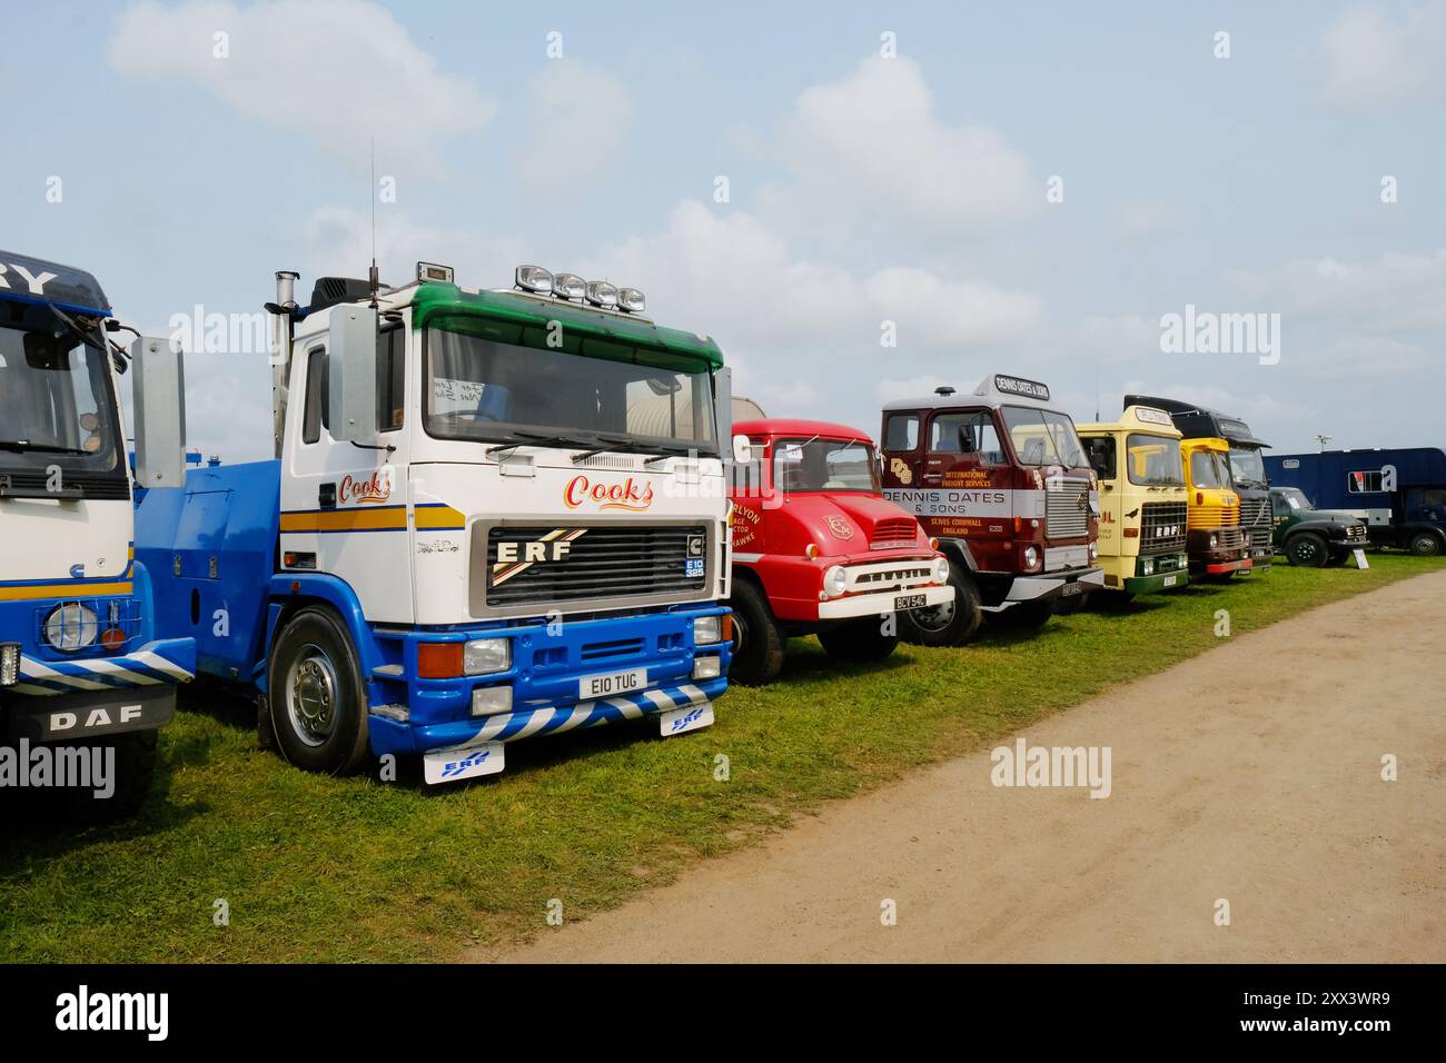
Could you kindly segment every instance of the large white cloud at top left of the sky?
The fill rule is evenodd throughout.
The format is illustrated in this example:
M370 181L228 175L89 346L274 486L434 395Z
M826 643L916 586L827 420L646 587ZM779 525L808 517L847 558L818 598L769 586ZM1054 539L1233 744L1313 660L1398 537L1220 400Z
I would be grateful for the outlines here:
M217 58L218 33L227 58ZM364 0L139 3L120 17L110 64L204 88L241 117L311 137L357 166L375 136L380 165L405 159L435 172L440 143L497 110Z

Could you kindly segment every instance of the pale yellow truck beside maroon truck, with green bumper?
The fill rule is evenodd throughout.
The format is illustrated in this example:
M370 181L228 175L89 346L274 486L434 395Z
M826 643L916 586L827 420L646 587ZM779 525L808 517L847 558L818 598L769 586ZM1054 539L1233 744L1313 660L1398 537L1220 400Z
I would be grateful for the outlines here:
M1099 476L1105 590L1128 599L1186 586L1189 499L1181 435L1170 415L1129 406L1119 421L1082 424L1079 434Z

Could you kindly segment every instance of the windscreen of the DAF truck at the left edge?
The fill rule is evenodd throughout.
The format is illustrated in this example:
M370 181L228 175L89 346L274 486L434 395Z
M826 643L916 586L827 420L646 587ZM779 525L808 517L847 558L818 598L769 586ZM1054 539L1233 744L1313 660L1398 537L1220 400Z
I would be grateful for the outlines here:
M119 467L106 359L71 331L0 327L0 470Z

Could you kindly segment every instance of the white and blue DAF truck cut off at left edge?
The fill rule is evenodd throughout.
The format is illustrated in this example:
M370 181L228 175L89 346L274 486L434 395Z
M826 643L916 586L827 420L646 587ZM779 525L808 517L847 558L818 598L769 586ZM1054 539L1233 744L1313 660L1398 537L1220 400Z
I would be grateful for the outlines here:
M48 762L88 819L139 807L156 730L195 671L191 638L158 633L155 584L132 558L119 399L130 370L136 476L179 484L181 359L146 338L127 359L108 338L121 328L90 273L0 252L0 730L26 774L4 781L36 785ZM58 771L62 751L103 761L108 797Z

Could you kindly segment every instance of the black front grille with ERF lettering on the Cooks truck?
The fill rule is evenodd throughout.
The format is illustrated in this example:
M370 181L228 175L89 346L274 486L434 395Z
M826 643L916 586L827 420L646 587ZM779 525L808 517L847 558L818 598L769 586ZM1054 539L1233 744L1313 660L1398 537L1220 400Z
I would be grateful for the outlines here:
M474 534L482 532L479 528ZM565 544L565 551L558 551L558 542ZM473 587L486 586L486 605L493 609L701 592L707 584L707 542L703 525L500 525L486 529L484 551L474 541ZM508 555L499 561L503 544ZM541 547L529 551L529 544ZM538 554L541 560L529 560ZM482 571L477 561L483 561Z

